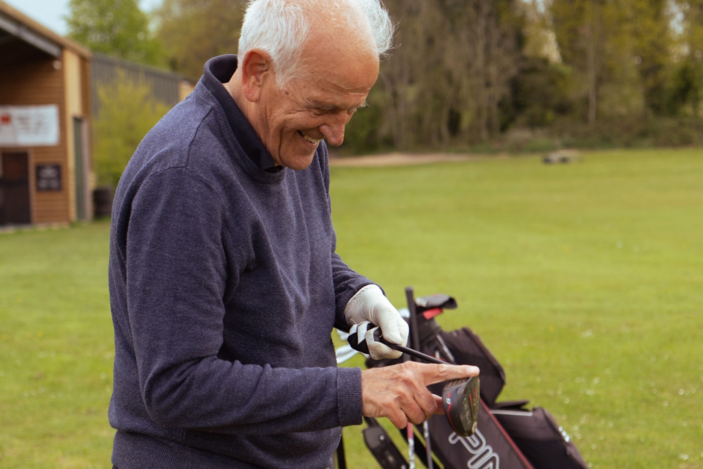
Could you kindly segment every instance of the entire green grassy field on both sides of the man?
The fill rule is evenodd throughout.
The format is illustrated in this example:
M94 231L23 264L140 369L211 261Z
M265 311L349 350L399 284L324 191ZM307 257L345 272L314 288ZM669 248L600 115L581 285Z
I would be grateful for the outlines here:
M498 357L499 400L551 411L592 468L703 469L703 150L332 184L342 257L399 307L407 285L456 297L439 321ZM110 467L107 243L104 222L0 234L0 468ZM344 435L351 467L378 467Z

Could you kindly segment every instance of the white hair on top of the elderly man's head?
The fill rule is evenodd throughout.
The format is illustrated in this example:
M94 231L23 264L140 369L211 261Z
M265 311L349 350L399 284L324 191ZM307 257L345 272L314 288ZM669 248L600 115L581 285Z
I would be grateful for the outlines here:
M391 49L394 26L380 0L249 0L239 37L240 58L252 49L271 56L279 86L285 86L299 70L301 51L314 20L346 20L350 32L368 31L359 38L379 59ZM357 34L359 36L359 34Z

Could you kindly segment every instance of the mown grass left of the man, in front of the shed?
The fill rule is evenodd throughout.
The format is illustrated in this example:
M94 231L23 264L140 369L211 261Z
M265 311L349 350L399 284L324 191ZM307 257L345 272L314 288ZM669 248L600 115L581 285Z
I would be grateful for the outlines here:
M105 222L0 234L0 467L108 468Z

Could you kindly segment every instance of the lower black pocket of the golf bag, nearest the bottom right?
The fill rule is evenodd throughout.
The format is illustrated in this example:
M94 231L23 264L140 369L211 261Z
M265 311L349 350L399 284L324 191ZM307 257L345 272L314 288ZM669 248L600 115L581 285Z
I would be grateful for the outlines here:
M574 442L546 409L492 409L491 413L535 469L588 468Z

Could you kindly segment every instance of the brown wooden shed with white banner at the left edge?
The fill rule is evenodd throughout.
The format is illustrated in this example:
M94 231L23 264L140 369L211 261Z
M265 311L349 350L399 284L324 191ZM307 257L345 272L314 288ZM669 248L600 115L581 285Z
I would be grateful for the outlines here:
M0 1L0 226L92 217L90 59Z

